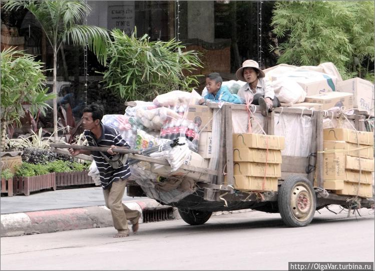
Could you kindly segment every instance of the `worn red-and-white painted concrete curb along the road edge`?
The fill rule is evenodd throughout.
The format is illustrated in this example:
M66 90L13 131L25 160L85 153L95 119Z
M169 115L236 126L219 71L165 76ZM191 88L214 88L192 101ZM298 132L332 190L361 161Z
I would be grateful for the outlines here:
M130 209L138 210L141 213L147 209L166 207L154 199L123 203ZM251 210L220 211L214 212L212 215L247 211ZM172 219L181 219L175 207L173 207ZM1 237L113 226L111 211L104 205L2 214L0 220ZM143 223L143 215L139 223Z

